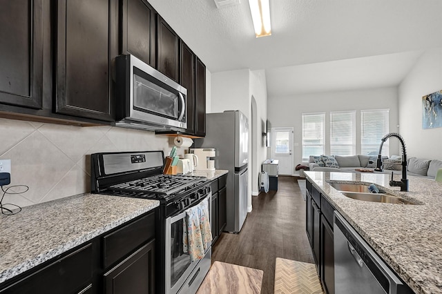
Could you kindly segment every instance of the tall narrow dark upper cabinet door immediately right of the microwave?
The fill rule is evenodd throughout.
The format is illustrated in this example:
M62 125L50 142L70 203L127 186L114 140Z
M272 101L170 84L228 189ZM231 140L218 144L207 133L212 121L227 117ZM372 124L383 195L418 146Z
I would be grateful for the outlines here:
M186 133L195 135L195 54L181 41L180 84L187 89Z

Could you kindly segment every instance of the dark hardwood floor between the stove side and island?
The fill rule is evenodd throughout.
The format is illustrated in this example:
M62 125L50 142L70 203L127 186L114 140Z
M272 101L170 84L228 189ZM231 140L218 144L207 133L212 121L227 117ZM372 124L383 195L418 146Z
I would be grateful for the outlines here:
M305 201L298 177L278 177L278 190L252 197L252 212L239 234L222 233L212 262L264 271L261 293L273 293L276 257L313 263L305 233Z

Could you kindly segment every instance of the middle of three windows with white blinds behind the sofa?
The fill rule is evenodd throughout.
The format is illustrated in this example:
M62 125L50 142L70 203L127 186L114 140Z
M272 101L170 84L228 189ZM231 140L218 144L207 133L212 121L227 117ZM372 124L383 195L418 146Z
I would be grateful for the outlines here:
M338 115L349 115L349 120L345 122L349 122L351 125L345 126L345 123L343 124L334 124L334 116ZM350 111L331 111L329 114L330 117L330 123L329 123L329 130L330 130L330 139L329 139L329 146L330 146L330 154L331 155L356 155L356 110L350 110ZM348 130L350 129L350 134L348 135L347 132L342 133L342 130ZM337 136L335 136L335 134ZM344 142L344 143L338 143L337 141L334 141L334 137L346 137L351 142ZM339 153L336 150L333 150L334 147L350 147L349 153Z

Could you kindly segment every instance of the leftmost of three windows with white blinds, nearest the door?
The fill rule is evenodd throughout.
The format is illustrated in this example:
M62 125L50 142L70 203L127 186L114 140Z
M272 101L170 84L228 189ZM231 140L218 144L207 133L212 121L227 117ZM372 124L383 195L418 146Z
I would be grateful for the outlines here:
M325 153L325 113L302 114L302 160Z

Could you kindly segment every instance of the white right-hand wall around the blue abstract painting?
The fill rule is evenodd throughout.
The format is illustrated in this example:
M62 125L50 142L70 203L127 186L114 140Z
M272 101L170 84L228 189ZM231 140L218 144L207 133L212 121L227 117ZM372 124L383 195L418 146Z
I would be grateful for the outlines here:
M439 90L442 90L442 48L424 52L398 87L399 125L408 157L442 159L442 128L422 128L422 97Z

